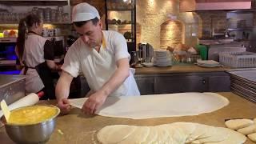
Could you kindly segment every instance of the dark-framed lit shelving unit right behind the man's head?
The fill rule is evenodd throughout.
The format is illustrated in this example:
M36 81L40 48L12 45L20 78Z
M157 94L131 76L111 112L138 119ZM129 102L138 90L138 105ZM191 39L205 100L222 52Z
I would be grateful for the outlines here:
M136 50L136 0L105 0L106 30L115 30L126 38L128 51Z

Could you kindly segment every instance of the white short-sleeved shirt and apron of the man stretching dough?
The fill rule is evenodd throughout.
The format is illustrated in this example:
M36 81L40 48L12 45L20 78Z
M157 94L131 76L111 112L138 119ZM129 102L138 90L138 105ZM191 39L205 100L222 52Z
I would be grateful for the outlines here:
M117 70L116 62L121 58L129 58L126 39L115 31L102 30L102 46L97 50L90 49L78 38L66 53L62 70L73 77L82 71L90 89L97 91L110 79ZM134 75L130 76L110 96L136 96L140 95Z

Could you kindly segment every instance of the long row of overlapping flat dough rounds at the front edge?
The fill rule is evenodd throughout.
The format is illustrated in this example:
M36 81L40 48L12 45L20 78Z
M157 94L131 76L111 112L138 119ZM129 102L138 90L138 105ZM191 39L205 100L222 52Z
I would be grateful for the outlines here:
M105 126L98 131L102 144L241 144L246 136L224 127L191 122L174 122L159 126Z

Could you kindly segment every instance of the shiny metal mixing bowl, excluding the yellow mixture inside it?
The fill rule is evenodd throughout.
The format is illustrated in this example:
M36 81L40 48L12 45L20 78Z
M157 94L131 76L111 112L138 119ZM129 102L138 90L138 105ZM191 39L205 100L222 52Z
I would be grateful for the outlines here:
M58 107L57 113L44 122L31 125L13 125L5 123L6 133L16 143L45 143L54 132L56 117L60 113ZM4 116L3 116L4 117Z

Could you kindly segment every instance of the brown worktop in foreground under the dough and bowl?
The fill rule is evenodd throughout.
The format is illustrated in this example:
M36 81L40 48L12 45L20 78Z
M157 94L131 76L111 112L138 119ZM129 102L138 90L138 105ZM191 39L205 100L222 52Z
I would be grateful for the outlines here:
M255 118L256 105L239 97L236 94L226 92L218 93L230 100L230 104L224 108L209 114L197 116L184 116L176 118L152 118L144 120L132 120L127 118L107 118L102 116L88 117L81 110L74 108L70 114L58 116L57 126L48 143L94 143L95 132L108 125L137 125L155 126L171 122L198 122L211 126L225 126L225 119L229 118ZM42 101L43 104L54 103L54 101ZM59 133L61 130L63 134ZM4 127L0 129L1 143L13 143L6 135ZM247 138L246 144L250 144Z

